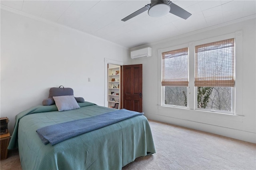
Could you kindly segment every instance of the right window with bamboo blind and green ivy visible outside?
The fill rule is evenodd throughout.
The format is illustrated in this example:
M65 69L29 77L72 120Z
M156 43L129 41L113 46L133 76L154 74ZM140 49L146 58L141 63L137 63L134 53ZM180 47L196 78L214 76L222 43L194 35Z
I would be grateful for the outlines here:
M234 38L195 47L197 108L232 112Z

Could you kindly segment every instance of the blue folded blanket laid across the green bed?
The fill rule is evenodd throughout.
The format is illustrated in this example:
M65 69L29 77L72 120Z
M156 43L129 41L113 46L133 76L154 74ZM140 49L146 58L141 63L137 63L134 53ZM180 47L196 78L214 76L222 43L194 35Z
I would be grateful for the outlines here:
M50 125L36 130L43 143L55 145L84 133L112 125L130 117L143 115L136 111L120 109L102 115Z

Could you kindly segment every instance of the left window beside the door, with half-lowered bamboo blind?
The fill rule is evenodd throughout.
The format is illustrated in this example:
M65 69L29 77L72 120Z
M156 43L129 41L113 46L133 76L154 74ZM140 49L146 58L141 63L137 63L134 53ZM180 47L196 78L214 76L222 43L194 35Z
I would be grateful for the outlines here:
M188 48L162 53L163 105L187 107Z

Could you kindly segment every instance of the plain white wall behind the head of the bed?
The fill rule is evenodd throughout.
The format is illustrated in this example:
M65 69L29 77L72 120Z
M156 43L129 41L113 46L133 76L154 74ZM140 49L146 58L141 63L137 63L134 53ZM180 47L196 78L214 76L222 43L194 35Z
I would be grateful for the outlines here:
M42 105L49 89L60 85L104 106L104 58L126 62L128 54L91 35L1 10L0 116L10 119L12 133L15 116Z

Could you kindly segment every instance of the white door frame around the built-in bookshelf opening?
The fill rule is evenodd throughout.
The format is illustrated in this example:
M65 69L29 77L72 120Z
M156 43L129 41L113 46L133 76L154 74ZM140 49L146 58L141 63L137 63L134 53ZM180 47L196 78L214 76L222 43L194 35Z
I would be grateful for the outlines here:
M108 64L115 64L119 66L123 66L124 62L123 61L116 61L108 58L104 58L104 74L105 74L105 79L104 79L104 106L108 107Z

